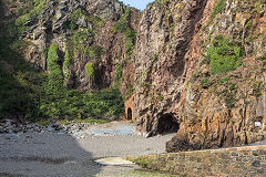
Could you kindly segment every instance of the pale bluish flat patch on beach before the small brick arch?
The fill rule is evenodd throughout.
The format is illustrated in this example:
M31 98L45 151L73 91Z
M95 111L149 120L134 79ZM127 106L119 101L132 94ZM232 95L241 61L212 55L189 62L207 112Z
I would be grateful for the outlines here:
M96 127L89 132L90 135L104 136L104 135L133 135L133 125L131 124L109 124L105 127Z

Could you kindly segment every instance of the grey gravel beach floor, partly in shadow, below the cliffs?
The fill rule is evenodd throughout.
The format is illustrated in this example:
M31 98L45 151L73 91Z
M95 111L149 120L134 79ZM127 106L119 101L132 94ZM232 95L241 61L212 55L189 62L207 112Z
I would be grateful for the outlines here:
M164 153L165 143L173 136L144 138L131 135L131 126L129 123L94 125L72 135L0 134L0 177L167 176L136 170L140 167L134 165L106 166L95 163L104 157ZM109 129L106 134L104 129Z

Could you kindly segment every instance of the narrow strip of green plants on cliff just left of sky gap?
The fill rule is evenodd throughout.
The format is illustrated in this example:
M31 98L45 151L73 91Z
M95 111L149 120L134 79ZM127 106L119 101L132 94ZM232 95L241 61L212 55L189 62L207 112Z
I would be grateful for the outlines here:
M114 32L121 32L125 35L127 43L124 46L127 53L127 58L132 55L132 52L133 52L132 50L133 50L135 37L136 37L135 31L132 30L130 27L130 15L131 15L131 10L126 9L125 13L120 17L120 20L112 28Z

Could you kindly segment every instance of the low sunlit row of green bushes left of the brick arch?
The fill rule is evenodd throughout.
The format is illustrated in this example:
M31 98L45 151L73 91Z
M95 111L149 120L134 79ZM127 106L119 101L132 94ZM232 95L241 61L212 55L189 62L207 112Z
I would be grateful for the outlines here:
M113 117L123 114L123 97L117 88L102 90L95 93L65 91L45 96L41 112L50 118Z

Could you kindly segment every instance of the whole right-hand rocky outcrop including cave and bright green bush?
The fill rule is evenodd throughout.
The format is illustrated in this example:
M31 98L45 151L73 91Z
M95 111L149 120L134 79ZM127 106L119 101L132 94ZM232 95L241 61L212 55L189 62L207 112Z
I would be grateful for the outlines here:
M167 152L265 139L264 19L264 2L147 7L135 51L136 132L176 131Z

